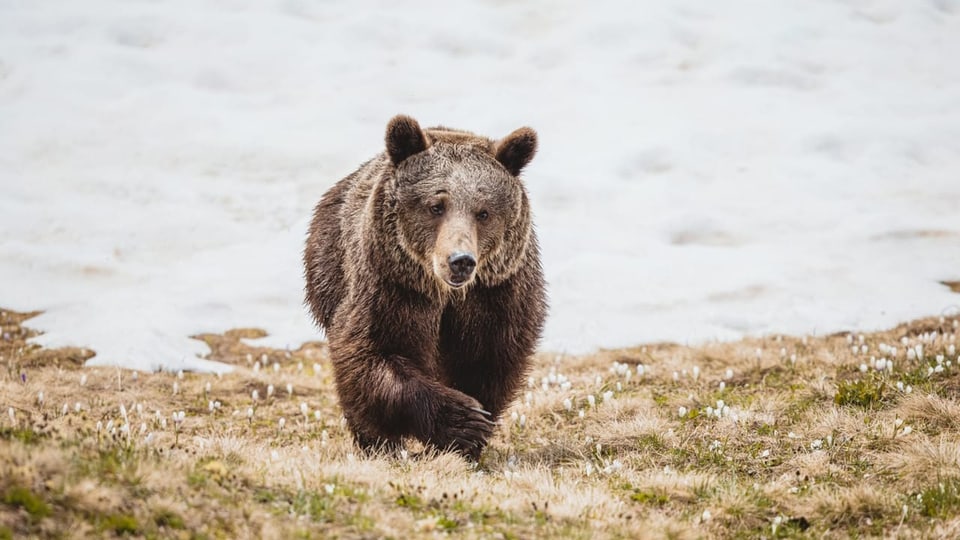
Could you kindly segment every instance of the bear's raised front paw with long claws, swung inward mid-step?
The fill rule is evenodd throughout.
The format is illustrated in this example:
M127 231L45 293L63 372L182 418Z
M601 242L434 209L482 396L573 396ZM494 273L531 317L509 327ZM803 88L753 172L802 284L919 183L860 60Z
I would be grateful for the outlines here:
M451 392L438 414L430 442L442 450L454 450L477 460L497 424L480 402L461 392Z

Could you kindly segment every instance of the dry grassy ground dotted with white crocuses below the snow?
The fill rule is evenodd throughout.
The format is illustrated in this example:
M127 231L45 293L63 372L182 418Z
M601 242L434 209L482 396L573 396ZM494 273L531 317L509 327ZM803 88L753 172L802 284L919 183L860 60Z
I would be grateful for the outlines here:
M136 374L29 316L0 315L0 538L960 537L952 318L542 354L471 465L358 455L323 344Z

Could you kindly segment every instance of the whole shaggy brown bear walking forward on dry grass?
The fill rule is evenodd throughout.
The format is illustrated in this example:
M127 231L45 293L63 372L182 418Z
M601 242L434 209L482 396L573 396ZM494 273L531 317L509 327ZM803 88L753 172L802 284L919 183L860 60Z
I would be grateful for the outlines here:
M547 312L520 171L536 132L491 140L396 116L386 151L317 204L306 300L357 444L414 437L477 459Z

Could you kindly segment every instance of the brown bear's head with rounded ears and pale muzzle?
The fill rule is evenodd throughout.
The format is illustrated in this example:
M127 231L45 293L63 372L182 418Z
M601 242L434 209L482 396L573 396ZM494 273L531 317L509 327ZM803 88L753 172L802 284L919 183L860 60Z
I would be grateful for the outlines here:
M410 258L449 289L495 285L516 272L532 236L519 175L536 152L535 131L491 140L424 130L401 115L387 125L386 145L396 233Z

